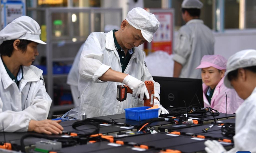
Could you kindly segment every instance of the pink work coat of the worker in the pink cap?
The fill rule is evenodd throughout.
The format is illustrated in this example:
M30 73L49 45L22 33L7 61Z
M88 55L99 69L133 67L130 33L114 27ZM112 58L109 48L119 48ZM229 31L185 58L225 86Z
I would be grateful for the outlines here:
M205 96L209 86L203 84L203 96L204 96L204 107L212 107L218 110L220 113L226 113L226 94L227 93L227 113L233 114L236 112L237 108L244 102L241 99L235 89L227 88L224 83L224 77L220 80L213 91L211 106L208 99Z

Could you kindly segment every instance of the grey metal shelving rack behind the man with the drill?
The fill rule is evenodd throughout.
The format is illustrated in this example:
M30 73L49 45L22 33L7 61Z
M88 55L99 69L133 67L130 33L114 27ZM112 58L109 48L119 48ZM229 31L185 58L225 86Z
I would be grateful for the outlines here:
M68 13L68 16L71 17L72 13L88 13L88 20L89 20L89 24L88 27L84 27L84 28L88 28L88 35L91 32L95 32L95 14L99 13L100 14L100 31L104 31L104 25L105 25L105 13L118 13L118 16L120 15L120 22L122 21L122 9L121 8L96 8L96 7L49 7L49 8L28 8L28 11L44 11L45 14L45 25L46 25L46 33L47 33L47 45L46 45L46 65L47 65L47 75L44 75L44 78L46 80L46 91L47 93L50 95L50 97L53 99L53 95L54 95L54 91L53 91L53 83L54 83L54 78L66 78L68 75L67 74L53 74L52 72L52 67L53 67L53 62L72 62L75 58L74 57L54 57L53 58L53 46L58 44L61 40L61 38L57 39L53 38L52 36L52 16L54 13ZM33 17L32 17L33 18ZM35 20L36 17L34 17ZM71 22L71 19L70 21ZM119 23L119 24L120 24ZM72 24L68 23L69 25L72 26ZM74 27L72 27L73 29ZM76 27L75 27L76 28ZM79 27L78 27L79 28ZM78 45L79 47L82 43L84 43L84 41L86 40L86 37L78 38L76 42L73 42L72 38L73 36L73 32L71 30L71 32L69 33L71 34L71 36L69 36L69 40L65 40L65 44L66 45ZM73 51L73 50L72 50ZM75 52L77 53L78 49L75 50ZM56 111L67 111L74 108L74 105L61 105L61 106L55 106L52 103L50 112L49 112L49 117L51 118L53 112Z

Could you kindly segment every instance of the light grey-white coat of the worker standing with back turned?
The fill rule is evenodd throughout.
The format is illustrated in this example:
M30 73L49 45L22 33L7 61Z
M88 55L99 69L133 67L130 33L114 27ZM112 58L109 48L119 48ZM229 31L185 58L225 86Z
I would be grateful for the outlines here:
M204 55L213 55L214 36L200 19L189 20L180 28L173 60L182 65L179 77L201 79L200 65Z

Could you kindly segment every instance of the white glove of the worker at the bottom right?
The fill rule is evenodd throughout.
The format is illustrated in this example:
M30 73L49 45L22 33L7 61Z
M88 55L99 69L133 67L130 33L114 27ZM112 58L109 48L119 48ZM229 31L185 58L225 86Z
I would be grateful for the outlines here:
M204 142L204 145L206 146L204 150L207 153L225 153L227 150L216 140L207 140Z

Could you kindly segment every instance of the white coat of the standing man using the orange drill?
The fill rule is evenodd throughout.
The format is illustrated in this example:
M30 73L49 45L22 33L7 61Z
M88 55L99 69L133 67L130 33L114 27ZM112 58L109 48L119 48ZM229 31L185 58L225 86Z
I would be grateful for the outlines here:
M134 47L132 57L124 73L143 82L146 80L153 81L144 59L143 51L138 47ZM125 101L116 100L117 85L122 85L122 83L99 80L99 77L109 68L122 72L113 32L91 33L85 41L79 62L80 118L83 113L86 113L87 118L113 115L124 113L124 108L138 106L139 99L134 99L132 94L127 94ZM154 82L154 86L155 97L160 99L160 85Z

